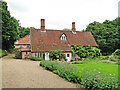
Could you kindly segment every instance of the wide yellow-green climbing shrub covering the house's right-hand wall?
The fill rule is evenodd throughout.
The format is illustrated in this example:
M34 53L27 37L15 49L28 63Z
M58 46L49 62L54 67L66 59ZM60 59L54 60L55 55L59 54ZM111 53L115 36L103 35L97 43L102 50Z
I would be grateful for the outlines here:
M74 54L78 54L80 56L80 58L87 58L90 56L101 56L100 53L100 49L96 48L94 49L91 46L76 46L74 45L74 47L72 48L73 50L73 55Z

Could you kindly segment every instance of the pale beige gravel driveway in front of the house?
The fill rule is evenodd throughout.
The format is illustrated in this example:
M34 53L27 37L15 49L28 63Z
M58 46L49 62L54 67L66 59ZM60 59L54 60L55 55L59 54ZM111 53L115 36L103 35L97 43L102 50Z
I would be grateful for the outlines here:
M76 88L72 84L39 66L39 61L2 58L2 88Z

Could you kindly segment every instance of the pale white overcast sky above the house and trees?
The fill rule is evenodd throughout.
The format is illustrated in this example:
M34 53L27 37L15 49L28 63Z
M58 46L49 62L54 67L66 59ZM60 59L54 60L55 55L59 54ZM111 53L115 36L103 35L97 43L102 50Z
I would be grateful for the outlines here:
M72 28L81 31L93 21L103 22L118 17L119 0L5 0L8 10L22 27L40 28L45 19L46 29Z

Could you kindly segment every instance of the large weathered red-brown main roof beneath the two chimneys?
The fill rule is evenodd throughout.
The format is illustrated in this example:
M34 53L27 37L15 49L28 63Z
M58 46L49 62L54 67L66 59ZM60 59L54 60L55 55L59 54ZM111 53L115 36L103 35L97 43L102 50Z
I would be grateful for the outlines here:
M63 33L67 36L66 41L60 40L60 36ZM31 29L30 34L32 52L53 51L58 49L61 49L62 51L71 51L68 44L97 46L90 32L76 31L76 34L73 34L72 31L46 30L46 32L41 32L40 29Z

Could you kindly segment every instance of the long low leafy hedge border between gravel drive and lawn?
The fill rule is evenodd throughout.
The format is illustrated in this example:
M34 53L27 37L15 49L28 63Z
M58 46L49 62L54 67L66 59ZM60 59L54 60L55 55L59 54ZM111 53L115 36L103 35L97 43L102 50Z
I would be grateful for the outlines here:
M86 89L118 89L118 79L113 75L84 71L76 67L54 61L42 61L40 66L58 74L60 77L85 86Z

